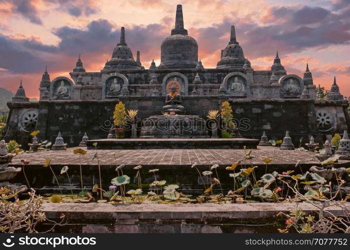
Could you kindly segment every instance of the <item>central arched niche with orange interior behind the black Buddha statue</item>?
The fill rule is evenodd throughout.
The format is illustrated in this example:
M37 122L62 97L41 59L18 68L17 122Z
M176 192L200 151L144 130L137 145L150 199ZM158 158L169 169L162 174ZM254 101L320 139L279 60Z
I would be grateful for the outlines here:
M163 78L162 94L166 95L169 92L171 85L176 86L176 91L181 95L188 95L188 80L184 74L179 72L168 73Z

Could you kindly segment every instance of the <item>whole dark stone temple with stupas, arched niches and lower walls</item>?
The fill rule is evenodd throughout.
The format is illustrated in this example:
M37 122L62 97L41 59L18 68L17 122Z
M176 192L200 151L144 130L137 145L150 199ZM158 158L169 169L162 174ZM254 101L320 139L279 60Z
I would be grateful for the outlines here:
M38 82L38 102L26 98L23 79L7 103L10 113L5 140L27 145L34 129L40 130L38 138L50 141L61 132L68 146L77 146L85 132L92 139L106 138L119 101L127 109L138 109L140 119L160 115L164 108L206 118L208 110L220 109L221 102L228 101L238 123L248 119L239 128L244 137L260 139L265 131L268 138L281 139L288 130L295 144L300 138L308 142L310 136L324 141L327 135L348 129L348 101L340 94L335 77L327 98L316 100L308 65L302 77L288 74L283 56L276 52L270 70L254 70L244 56L244 44L238 42L234 25L227 27L230 38L220 60L213 62L216 68L205 68L198 60L197 42L184 23L182 6L177 5L174 28L160 44L160 64L153 60L148 69L142 66L140 51L134 59L127 45L127 30L121 27L120 41L111 48L111 58L106 58L103 68L87 72L83 60L93 58L83 54L70 77L50 80L46 67ZM165 105L171 89L179 94L175 101L181 101L174 107Z

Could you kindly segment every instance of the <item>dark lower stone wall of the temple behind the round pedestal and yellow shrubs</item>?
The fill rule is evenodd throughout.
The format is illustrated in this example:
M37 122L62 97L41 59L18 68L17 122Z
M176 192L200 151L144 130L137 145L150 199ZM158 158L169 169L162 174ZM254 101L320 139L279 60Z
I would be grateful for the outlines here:
M161 114L164 97L119 97L126 109L138 109L138 118ZM184 96L186 114L206 118L207 111L219 109L227 97ZM248 138L260 138L265 131L269 139L282 139L286 130L295 145L299 138L317 135L315 109L312 100L248 100L229 98L234 118L243 121L240 133ZM58 131L69 146L77 145L86 131L90 139L106 138L117 100L98 101L40 101L36 129L39 138L54 141ZM249 127L246 127L248 125Z

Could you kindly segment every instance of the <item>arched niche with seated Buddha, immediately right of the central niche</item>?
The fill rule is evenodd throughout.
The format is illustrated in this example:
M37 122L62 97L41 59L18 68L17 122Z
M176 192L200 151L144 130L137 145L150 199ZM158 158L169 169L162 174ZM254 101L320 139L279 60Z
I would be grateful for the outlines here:
M247 76L242 72L230 72L223 78L226 93L231 96L246 97L250 84Z

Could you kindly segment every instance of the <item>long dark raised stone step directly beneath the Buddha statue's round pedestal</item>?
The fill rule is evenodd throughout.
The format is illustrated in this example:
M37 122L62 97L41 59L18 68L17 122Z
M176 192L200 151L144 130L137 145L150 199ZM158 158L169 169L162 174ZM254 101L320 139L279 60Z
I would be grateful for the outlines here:
M259 140L247 138L153 138L153 139L95 139L87 140L88 149L238 149L256 148Z

